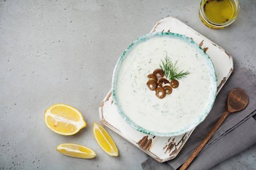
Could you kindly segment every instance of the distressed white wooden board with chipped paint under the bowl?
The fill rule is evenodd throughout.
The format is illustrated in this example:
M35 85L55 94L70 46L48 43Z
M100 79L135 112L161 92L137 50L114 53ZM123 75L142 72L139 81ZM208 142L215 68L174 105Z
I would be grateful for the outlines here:
M156 31L186 35L202 46L213 61L218 79L218 94L233 71L232 56L220 46L173 17L164 18L157 22L151 32ZM191 130L184 135L176 137L157 137L146 135L133 129L119 115L113 103L111 90L101 102L99 107L99 119L102 124L115 131L117 134L121 135L121 137L159 162L165 162L175 158L193 132L193 130Z

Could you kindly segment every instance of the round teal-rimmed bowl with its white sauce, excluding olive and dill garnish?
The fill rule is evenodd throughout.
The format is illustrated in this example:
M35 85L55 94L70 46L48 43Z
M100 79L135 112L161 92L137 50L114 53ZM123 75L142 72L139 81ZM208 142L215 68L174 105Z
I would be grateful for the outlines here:
M147 86L153 73L168 57L177 62L179 79L171 95L159 99ZM216 98L217 78L213 63L190 38L166 32L146 34L121 55L112 77L112 96L121 117L148 135L178 136L189 132L209 114Z

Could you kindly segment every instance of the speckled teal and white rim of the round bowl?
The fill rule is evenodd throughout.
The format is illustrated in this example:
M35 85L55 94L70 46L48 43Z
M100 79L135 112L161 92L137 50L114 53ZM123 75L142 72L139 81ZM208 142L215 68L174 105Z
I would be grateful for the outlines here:
M183 39L184 41L188 42L190 45L194 46L195 49L197 49L199 53L202 53L202 56L205 56L204 59L205 59L205 62L207 63L208 69L209 69L209 73L210 73L209 76L211 77L210 80L211 80L212 90L211 90L210 97L209 97L208 102L207 102L207 107L204 108L202 114L200 115L200 117L198 117L197 121L194 121L193 123L186 125L184 128L182 128L182 129L180 129L179 131L176 131L176 132L156 132L156 131L151 131L151 130L141 128L139 125L137 125L133 121L131 121L129 119L129 117L119 108L119 102L118 102L118 99L117 99L116 83L117 83L117 79L118 79L119 69L121 68L121 64L127 56L126 54L136 44L138 44L140 42L144 42L144 41L146 41L150 38L156 37L156 36L157 37L167 36L167 37L171 37L171 38L179 38L180 40ZM143 132L144 134L147 134L147 135L154 135L154 136L159 136L159 137L173 137L173 136L183 135L186 132L189 132L189 131L193 130L196 126L198 126L205 119L205 117L207 117L207 115L211 111L211 109L213 107L213 104L215 102L215 99L216 99L217 77L216 77L216 71L215 71L215 68L213 66L213 62L212 62L211 58L209 57L209 55L207 55L207 53L204 52L202 47L199 46L197 43L195 43L193 40L191 40L191 38L186 37L185 35L178 34L178 33L153 32L153 33L148 33L146 35L143 35L140 38L138 38L137 40L135 40L132 44L130 44L130 46L128 46L128 48L119 57L119 59L117 61L117 64L115 65L115 68L114 68L114 71L113 71L111 89L112 89L113 102L114 102L114 104L117 108L117 111L118 111L119 115L132 128L134 128L135 130L137 130L139 132Z

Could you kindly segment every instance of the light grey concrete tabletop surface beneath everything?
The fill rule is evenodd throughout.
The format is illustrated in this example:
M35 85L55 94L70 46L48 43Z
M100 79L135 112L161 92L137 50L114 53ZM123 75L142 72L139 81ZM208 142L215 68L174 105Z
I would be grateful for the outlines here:
M131 42L173 16L247 67L256 77L256 1L240 0L237 20L212 30L198 16L200 0L0 0L0 169L141 170L141 150L107 128L119 148L108 156L92 135L99 104L111 88L112 71ZM45 110L74 106L88 123L76 135L47 128ZM97 152L91 160L66 157L61 143ZM256 169L256 145L211 170Z

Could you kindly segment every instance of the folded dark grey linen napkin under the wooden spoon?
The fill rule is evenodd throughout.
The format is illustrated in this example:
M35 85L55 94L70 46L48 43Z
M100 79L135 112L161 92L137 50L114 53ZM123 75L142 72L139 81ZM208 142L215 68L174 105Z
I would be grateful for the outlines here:
M249 98L247 107L227 117L187 170L208 170L255 144L256 79L247 68L241 68L233 71L217 95L211 112L195 128L177 157L164 163L159 163L152 157L148 157L146 161L141 163L142 168L144 170L177 170L224 113L227 96L234 88L242 88L247 93Z

